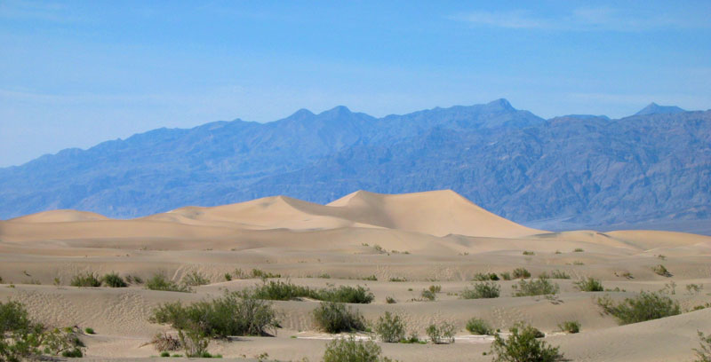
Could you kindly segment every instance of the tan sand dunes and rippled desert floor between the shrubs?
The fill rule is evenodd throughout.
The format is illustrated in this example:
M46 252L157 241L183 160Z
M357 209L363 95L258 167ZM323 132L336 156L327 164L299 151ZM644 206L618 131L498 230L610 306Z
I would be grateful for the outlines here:
M576 248L582 252L574 252ZM534 255L524 256L523 251ZM659 256L664 256L661 259ZM651 268L664 264L671 277ZM554 300L513 297L516 281L499 281L501 297L464 300L477 272L526 268L535 277L560 270ZM458 329L453 344L380 343L383 355L401 361L489 361L491 338L470 335L467 319L479 317L506 331L517 321L547 333L575 361L688 361L698 347L697 330L711 333L711 237L681 232L546 232L515 224L450 191L384 195L358 192L329 205L272 197L214 208L188 207L155 216L114 220L73 210L48 211L0 222L0 299L19 300L46 323L92 327L84 335L88 360L148 359L158 352L146 343L169 328L148 321L159 303L199 301L260 284L260 279L226 281L236 269L279 273L309 287L360 285L375 301L352 304L366 319L396 311L424 336L433 321ZM180 281L198 271L211 284L195 293L144 287L69 287L79 272L116 271L147 279L164 272ZM631 274L632 278L624 275ZM319 278L328 275L329 278ZM375 275L378 280L364 280ZM580 292L573 282L601 279L619 292ZM52 285L59 278L61 286ZM391 278L406 281L389 281ZM619 326L595 304L598 296L621 301L641 290L675 283L681 315ZM13 287L9 287L12 283ZM37 284L39 283L39 284ZM702 285L700 293L688 284ZM442 291L434 302L419 301L430 285ZM667 291L670 290L667 287ZM386 303L393 297L394 304ZM318 332L311 320L315 301L274 302L281 325L276 337L239 337L212 342L224 358L318 361L333 335ZM578 320L579 334L557 325Z

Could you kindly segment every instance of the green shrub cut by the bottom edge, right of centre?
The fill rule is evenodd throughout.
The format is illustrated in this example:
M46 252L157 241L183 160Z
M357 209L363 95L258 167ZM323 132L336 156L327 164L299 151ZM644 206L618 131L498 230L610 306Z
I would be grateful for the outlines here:
M554 362L562 361L563 354L558 347L539 341L536 329L517 324L509 329L511 334L503 339L499 334L494 336L491 343L491 354L494 362Z

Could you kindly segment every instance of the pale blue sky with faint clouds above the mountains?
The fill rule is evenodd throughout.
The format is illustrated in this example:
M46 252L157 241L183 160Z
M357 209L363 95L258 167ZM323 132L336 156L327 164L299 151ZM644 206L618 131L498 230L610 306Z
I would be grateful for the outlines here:
M708 1L0 0L0 167L299 108L708 109L709 84Z

